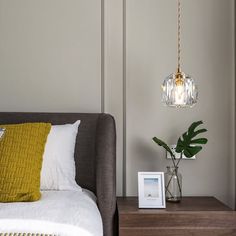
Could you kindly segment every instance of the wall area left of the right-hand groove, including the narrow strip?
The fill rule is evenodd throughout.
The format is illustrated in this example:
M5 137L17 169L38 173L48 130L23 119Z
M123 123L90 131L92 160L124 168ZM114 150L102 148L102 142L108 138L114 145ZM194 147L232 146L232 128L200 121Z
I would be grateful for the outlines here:
M112 113L118 195L123 181L122 10L122 1L0 0L0 110Z

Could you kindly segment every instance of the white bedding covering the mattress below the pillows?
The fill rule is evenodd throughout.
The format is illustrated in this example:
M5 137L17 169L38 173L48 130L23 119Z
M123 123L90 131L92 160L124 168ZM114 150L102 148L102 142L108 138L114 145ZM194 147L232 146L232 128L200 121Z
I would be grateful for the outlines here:
M0 203L0 233L102 236L95 196L88 191L43 191L41 200Z

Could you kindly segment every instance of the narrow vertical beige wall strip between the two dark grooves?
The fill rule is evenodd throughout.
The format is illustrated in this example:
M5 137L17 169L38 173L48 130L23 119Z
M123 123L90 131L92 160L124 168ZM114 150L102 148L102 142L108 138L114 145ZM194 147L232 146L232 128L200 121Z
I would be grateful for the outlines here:
M123 2L104 1L104 108L115 116L117 132L117 195L123 194L124 91L123 91ZM124 184L125 186L125 184Z

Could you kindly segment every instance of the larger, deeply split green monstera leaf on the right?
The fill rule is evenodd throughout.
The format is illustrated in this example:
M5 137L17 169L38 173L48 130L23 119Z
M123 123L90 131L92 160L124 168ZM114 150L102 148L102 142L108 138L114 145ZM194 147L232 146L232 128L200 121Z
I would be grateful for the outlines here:
M175 148L177 153L183 153L186 157L191 158L202 150L202 146L199 144L206 144L208 140L206 138L194 139L198 134L207 131L206 129L196 130L196 128L201 124L203 124L202 121L192 123L188 128L188 131L178 139Z

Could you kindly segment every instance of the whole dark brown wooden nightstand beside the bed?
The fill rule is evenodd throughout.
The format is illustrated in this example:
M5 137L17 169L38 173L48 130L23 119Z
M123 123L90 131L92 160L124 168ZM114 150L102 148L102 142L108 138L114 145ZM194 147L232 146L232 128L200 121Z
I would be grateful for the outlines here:
M119 236L234 236L236 212L214 197L184 197L166 209L139 209L137 197L118 197Z

